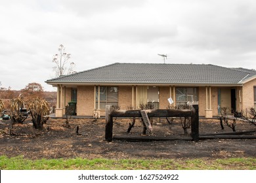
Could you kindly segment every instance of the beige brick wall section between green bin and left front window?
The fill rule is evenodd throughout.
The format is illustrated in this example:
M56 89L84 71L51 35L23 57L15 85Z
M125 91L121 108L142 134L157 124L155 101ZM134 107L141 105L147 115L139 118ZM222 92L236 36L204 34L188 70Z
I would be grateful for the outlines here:
M77 86L77 116L93 116L94 86Z

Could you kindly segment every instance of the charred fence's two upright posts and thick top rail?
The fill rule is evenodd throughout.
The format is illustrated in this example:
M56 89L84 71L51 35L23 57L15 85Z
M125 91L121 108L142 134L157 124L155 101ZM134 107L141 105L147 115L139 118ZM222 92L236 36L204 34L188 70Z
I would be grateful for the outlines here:
M146 110L148 118L191 117L192 141L199 141L199 116L198 105L193 105L192 110L157 109ZM106 129L105 139L111 142L113 139L113 118L135 117L142 118L140 110L114 110L112 105L106 105Z

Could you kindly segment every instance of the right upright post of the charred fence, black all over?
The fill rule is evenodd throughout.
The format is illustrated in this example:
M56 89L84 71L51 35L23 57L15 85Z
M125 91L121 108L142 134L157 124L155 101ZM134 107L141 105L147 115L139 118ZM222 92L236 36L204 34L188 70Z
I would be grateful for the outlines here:
M191 136L192 141L199 141L199 114L198 105L193 105L191 116Z

